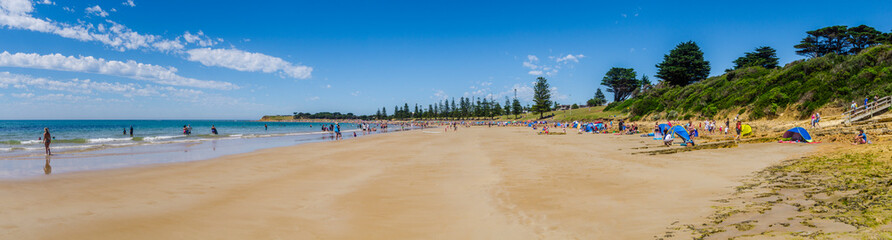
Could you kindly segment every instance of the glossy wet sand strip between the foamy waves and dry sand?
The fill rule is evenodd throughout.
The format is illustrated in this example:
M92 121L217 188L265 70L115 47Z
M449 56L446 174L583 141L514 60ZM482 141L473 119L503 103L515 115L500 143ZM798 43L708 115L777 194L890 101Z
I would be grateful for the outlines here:
M352 139L354 137L350 133L359 131L345 130L341 140ZM357 137L394 132L400 130L358 134ZM52 156L43 154L2 156L0 180L32 179L51 174L210 160L268 148L335 141L330 135L328 132L297 132L248 138L191 139L178 142L102 146L54 151Z

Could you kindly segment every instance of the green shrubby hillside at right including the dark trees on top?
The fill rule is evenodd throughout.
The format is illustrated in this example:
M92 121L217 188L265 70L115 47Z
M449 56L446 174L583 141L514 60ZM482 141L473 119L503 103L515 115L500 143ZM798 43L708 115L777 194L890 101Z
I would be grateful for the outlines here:
M656 86L628 100L615 101L607 109L628 112L634 120L733 114L760 119L787 112L806 118L822 107L845 107L857 99L892 93L892 46L881 44L888 43L888 35L866 26L821 28L809 31L796 45L797 53L808 59L774 67L774 49L760 47L735 60L734 69L721 76L699 75L703 80L688 78L695 76L691 74L666 73L661 68L657 75L661 81ZM693 50L687 52L690 56L676 57L699 55ZM667 55L667 60L672 55ZM666 67L666 62L658 67ZM702 70L698 66L689 72ZM668 72L674 71L678 70ZM673 76L682 80L670 80Z

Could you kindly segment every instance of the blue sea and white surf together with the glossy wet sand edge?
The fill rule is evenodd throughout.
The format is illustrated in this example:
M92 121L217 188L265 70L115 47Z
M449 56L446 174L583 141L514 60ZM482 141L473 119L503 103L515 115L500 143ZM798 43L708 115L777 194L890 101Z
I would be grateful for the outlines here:
M268 129L264 128L268 125ZM150 164L200 161L260 149L335 141L322 125L221 120L3 120L0 121L0 179ZM133 125L133 137L129 128ZM183 125L192 126L184 135ZM215 126L219 135L211 134ZM344 139L368 134L356 124L341 123ZM52 156L38 139L43 128L55 137ZM374 125L373 127L379 128ZM124 129L127 134L124 134ZM389 131L413 128L391 127ZM356 134L356 135L354 135Z

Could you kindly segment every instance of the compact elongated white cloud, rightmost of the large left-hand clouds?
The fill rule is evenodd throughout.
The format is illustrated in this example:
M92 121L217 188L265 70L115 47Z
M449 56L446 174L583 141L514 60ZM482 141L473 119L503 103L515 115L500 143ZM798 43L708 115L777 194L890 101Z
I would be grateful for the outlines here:
M219 66L238 71L278 72L282 76L296 79L310 78L312 67L293 64L281 58L262 53L245 52L238 49L197 48L186 51L189 61L200 62L205 66Z

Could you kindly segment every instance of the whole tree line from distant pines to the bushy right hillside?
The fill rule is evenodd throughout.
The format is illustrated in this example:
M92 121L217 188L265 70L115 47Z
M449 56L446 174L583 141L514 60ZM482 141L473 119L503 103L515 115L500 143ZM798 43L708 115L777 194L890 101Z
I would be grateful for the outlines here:
M735 59L733 67L724 74L709 77L710 63L693 41L676 45L656 64L656 83L647 75L639 78L635 69L613 67L601 79L606 91L613 93L613 101L605 110L627 111L633 120L638 120L646 115L653 119L713 117L720 111L740 108L736 113L749 112L751 118L760 118L776 116L788 105L798 103L797 110L802 116L808 116L834 100L892 93L892 84L888 81L892 78L888 68L892 64L892 48L887 47L892 42L892 33L861 25L830 26L806 34L794 48L807 59L784 67L779 67L774 48L760 46ZM877 50L871 51L877 45L885 48L875 47ZM868 56L861 57L865 54ZM879 88L869 85L878 81L881 84L875 87ZM868 85L863 85L864 89L853 89L857 84ZM538 77L532 103L527 105L521 104L516 96L505 97L503 103L492 97L460 97L427 106L404 103L394 106L390 112L382 107L374 115L295 113L294 118L489 119L517 117L527 112L539 114L541 118L559 106L552 101L549 89L548 80ZM598 88L585 105L606 103L604 93ZM577 106L573 104L573 108Z

